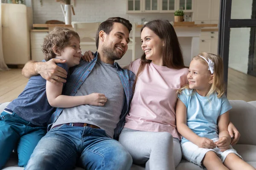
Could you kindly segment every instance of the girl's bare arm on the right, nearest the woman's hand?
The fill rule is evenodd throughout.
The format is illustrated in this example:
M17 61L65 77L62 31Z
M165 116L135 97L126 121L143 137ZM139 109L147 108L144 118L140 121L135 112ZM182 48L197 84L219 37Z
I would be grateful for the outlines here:
M219 140L215 142L217 147L221 149L221 151L229 149L231 137L227 130L229 124L229 111L223 113L221 116L218 117L218 133L219 133Z

